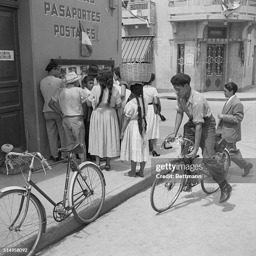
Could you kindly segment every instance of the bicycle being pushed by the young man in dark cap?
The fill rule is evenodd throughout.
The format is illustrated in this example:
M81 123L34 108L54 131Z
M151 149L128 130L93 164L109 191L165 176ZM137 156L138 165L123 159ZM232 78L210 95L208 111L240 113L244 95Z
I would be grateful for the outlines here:
M175 133L174 137L171 141L165 139L162 146L165 149L169 149L172 146L166 147L167 143L177 142L182 148L181 154L177 159L170 159L168 163L169 168L162 170L156 175L151 187L150 202L152 208L157 212L168 210L182 191L191 192L192 187L195 187L197 184L201 184L202 190L207 194L212 194L220 188L204 164L198 168L199 171L192 172L188 168L185 168L184 149L185 147L188 148L190 153L194 148L194 143L187 138L183 138L178 133ZM199 155L196 157L199 157ZM223 152L215 151L215 158L224 167L226 177L230 166L228 150L225 149Z

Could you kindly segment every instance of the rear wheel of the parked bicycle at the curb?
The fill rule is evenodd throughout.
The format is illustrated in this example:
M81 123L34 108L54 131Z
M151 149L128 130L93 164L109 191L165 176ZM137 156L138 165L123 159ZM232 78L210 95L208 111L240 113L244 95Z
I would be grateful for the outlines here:
M72 189L71 202L74 205L82 196L84 196L84 201L76 207L72 207L72 212L80 223L89 224L100 215L105 200L105 184L101 170L94 164L86 164L80 170L86 177L86 182L93 194L87 197L89 189L77 172L70 185L70 189Z

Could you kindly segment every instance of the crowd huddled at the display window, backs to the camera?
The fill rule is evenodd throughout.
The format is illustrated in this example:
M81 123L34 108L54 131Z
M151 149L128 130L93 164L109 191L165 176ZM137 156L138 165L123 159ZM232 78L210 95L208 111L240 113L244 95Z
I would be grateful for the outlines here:
M48 76L41 80L40 89L53 161L66 158L58 155L59 135L61 147L72 141L84 145L86 154L79 154L81 161L96 161L99 167L100 161L105 161L105 170L109 171L111 158L120 156L122 161L131 161L126 176L143 177L149 157L148 140L154 145L152 155L160 156L156 152L159 120L153 108L158 94L150 86L155 75L147 83L131 84L121 79L119 67L112 72L90 64L84 70L86 76L73 71L62 79L57 63L49 63L46 71Z

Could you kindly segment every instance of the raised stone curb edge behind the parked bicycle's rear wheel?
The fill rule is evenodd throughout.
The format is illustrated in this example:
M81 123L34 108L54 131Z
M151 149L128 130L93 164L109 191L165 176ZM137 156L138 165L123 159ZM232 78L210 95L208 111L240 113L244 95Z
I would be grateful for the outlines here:
M149 172L149 174L149 177L144 177L143 179L137 177L136 179L141 179L141 181L133 184L132 186L129 186L129 184L125 184L124 186L121 186L118 189L115 189L114 191L108 193L105 197L105 202L102 207L100 216L105 214L106 212L109 212L111 209L113 209L123 201L127 200L133 195L138 194L138 192L141 192L141 190L151 185L154 181L155 176L154 174L151 174L151 171ZM98 219L100 218L100 216L98 217ZM74 232L77 228L82 226L85 226L85 224L79 223L72 215L72 217L67 218L61 223L56 223L56 225L51 226L50 228L46 228L46 233L43 234L41 238L41 242L38 246L37 252L42 251L44 250L44 248L47 248L52 244L58 242L59 240L61 240L61 238L66 237L70 233Z

